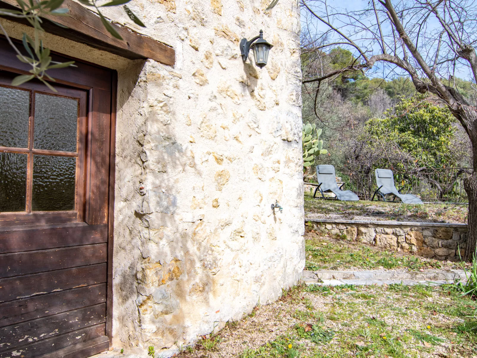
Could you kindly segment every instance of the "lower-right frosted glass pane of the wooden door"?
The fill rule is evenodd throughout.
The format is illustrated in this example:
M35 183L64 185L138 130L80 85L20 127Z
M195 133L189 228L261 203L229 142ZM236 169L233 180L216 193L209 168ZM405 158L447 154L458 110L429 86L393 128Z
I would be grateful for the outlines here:
M33 156L31 210L74 210L76 158Z

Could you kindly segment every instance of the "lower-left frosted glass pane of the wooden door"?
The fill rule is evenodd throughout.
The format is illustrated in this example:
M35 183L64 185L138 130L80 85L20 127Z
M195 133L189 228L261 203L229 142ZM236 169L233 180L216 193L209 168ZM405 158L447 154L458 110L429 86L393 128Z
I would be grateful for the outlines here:
M25 211L27 155L0 153L0 211Z

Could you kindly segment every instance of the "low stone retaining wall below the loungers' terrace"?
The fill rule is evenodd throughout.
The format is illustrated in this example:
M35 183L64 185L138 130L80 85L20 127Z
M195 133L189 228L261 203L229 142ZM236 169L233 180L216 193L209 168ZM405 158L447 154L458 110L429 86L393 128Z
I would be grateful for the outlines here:
M467 225L400 221L308 221L313 230L389 250L414 253L437 260L463 257Z

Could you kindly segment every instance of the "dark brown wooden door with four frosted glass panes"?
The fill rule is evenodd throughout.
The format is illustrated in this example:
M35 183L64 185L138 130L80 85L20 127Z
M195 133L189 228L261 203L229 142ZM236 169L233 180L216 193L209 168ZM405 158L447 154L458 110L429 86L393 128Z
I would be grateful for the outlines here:
M11 86L16 65L0 55L0 358L84 358L111 336L113 77L83 64L53 92Z

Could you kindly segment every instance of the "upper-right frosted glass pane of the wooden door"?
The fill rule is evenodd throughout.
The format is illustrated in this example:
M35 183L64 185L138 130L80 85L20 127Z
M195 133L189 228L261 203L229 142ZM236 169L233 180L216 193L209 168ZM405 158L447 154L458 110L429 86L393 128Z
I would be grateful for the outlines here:
M78 101L35 95L34 148L76 152Z

